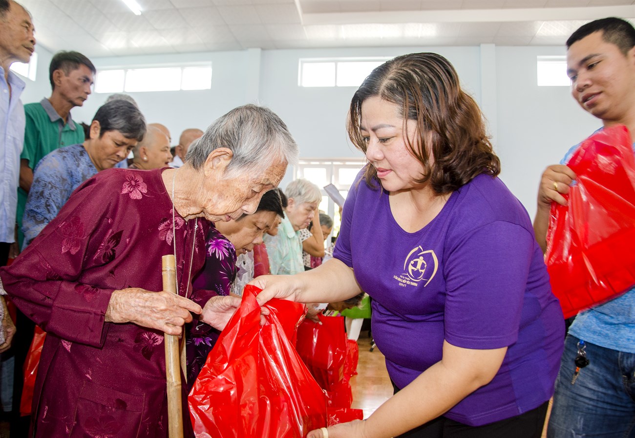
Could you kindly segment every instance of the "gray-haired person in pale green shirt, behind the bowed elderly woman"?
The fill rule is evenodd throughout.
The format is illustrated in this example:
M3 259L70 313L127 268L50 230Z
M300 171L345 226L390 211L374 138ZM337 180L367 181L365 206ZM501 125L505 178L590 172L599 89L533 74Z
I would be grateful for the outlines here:
M322 194L318 186L306 179L291 181L284 194L287 198L285 216L277 235L265 236L265 244L272 274L297 274L304 271L300 230L307 228L311 221L319 224L318 205ZM319 226L316 227L315 235L319 242L323 242Z

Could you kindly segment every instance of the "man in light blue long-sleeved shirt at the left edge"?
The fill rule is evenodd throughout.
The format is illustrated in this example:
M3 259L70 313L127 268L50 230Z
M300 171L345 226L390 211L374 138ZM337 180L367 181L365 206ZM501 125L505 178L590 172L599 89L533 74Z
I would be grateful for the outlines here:
M0 266L15 242L20 151L24 140L24 111L20 94L24 82L9 70L14 62L29 62L36 39L29 12L12 0L0 0ZM15 327L0 299L0 352L11 342ZM5 316L6 315L6 316Z

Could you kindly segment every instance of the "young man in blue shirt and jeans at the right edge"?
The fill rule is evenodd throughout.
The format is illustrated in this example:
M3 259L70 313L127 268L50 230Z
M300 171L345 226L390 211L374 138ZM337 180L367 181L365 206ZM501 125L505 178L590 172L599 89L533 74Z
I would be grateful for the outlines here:
M634 27L619 18L595 20L573 32L566 46L573 98L604 127L624 125L635 140ZM564 164L551 165L542 174L533 226L543 250L551 203L566 205L562 194L569 193L576 178ZM580 341L589 365L574 380ZM632 437L634 424L635 287L575 317L565 340L547 436Z

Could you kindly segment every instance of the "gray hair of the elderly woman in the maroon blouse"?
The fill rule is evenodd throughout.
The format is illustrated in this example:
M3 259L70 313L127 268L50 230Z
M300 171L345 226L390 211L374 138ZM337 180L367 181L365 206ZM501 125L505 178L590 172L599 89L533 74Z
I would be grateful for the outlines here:
M225 178L236 177L239 172L260 172L276 162L295 165L299 155L298 145L276 113L252 104L234 108L212 123L192 142L185 162L200 169L218 147L227 147L234 154Z

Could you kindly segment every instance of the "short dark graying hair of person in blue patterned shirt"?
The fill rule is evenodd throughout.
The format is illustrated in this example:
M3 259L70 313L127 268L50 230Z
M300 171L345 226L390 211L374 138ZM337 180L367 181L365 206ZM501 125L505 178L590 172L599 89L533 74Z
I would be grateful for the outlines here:
M99 122L99 137L108 131L118 131L127 139L141 141L145 135L145 118L141 111L127 100L111 100L99 107L93 121Z

